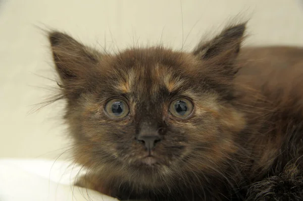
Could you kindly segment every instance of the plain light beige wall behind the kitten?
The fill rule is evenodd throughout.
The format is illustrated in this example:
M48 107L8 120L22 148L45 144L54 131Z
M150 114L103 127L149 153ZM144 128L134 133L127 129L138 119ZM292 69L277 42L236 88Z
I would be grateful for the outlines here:
M69 148L62 103L32 112L38 107L32 105L44 101L52 94L47 89L56 86L42 78L56 79L46 37L36 26L66 31L100 49L161 41L180 49L183 41L190 50L206 32L216 32L239 13L240 19L251 19L246 45L303 46L300 1L0 2L0 157L56 158Z

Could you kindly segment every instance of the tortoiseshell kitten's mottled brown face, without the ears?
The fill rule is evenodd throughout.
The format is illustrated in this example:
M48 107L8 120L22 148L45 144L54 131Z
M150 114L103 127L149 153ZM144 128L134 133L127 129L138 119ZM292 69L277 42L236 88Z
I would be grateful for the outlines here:
M218 94L207 91L203 78L190 70L198 61L163 49L129 50L119 57L121 63L110 58L109 71L98 76L77 105L91 150L105 152L125 167L155 170L189 156L213 161L218 153L209 153L211 149L230 147L229 134L218 126Z

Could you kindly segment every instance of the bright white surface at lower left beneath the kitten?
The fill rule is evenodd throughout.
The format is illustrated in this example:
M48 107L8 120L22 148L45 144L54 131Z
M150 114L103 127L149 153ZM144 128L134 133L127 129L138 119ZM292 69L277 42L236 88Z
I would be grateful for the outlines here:
M80 167L70 162L0 160L1 201L113 201L85 188L73 187ZM81 175L81 173L80 173Z

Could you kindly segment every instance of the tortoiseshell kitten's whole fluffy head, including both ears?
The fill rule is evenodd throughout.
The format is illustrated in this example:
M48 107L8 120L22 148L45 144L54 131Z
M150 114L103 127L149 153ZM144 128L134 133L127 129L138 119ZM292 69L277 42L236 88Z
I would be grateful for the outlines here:
M237 151L234 133L244 126L231 104L244 30L230 26L189 53L152 47L105 54L49 33L77 162L103 179L150 186L215 171Z

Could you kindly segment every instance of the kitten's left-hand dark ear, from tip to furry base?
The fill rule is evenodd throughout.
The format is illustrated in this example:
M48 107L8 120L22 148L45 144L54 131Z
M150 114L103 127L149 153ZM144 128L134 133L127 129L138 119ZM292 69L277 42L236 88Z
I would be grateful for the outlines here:
M67 98L73 99L88 89L93 71L102 58L97 50L87 47L71 36L52 31L48 33L53 59Z

